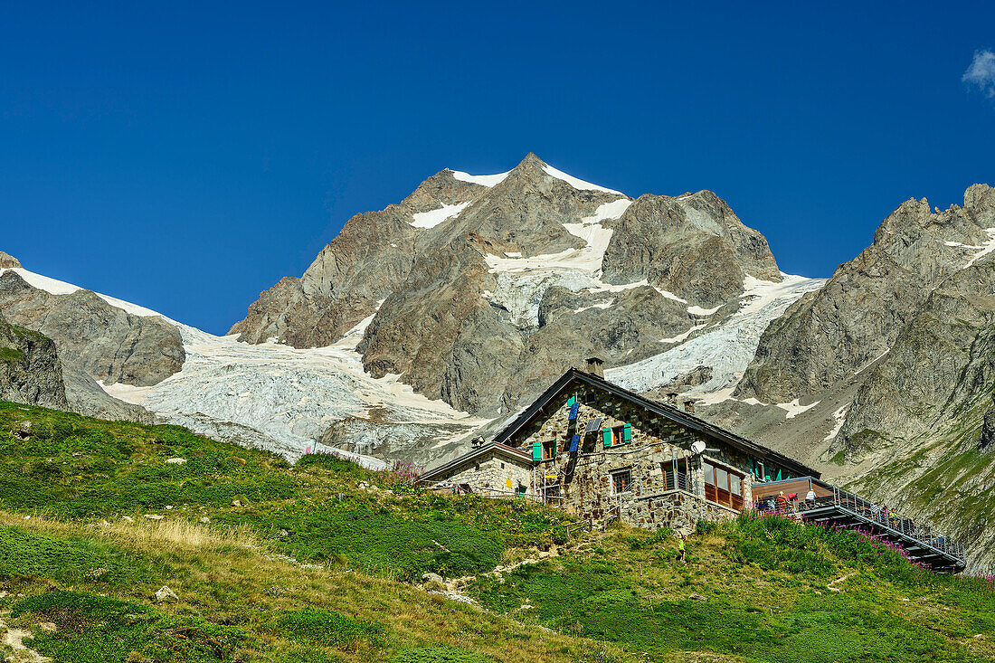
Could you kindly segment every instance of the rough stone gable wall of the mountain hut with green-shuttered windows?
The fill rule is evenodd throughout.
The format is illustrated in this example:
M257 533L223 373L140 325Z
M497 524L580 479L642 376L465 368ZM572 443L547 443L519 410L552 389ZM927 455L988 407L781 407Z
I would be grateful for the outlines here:
M570 397L579 403L575 421L569 421ZM597 430L584 434L587 422L599 417L602 421ZM626 423L632 426L632 440L604 448L602 428ZM579 453L569 454L570 440L578 433ZM543 485L558 486L563 507L578 518L599 520L617 510L621 520L630 525L682 532L694 529L698 520L728 519L735 514L733 510L704 499L702 458L745 475L744 504L751 502L746 454L595 387L577 385L561 394L545 407L545 415L522 429L511 444L531 452L533 442L549 440L556 440L557 454L539 463L534 490L541 492ZM703 456L691 451L698 440L708 447ZM665 468L670 469L675 459L687 459L688 491L663 488ZM632 477L630 490L615 494L611 475L626 469ZM555 478L544 479L547 476Z

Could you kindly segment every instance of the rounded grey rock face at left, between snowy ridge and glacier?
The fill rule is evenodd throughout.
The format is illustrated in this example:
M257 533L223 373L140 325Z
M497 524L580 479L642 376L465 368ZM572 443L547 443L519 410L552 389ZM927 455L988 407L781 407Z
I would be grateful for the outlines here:
M156 384L183 365L179 331L156 318L132 316L90 291L52 295L16 272L0 276L0 311L51 337L64 363L105 384Z

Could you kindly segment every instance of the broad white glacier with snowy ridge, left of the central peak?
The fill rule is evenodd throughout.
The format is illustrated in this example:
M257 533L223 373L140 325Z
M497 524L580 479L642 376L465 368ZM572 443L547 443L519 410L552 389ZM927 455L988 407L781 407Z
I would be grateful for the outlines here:
M6 271L6 270L4 270ZM30 285L53 295L69 295L79 286L25 269L14 268ZM212 437L269 449L296 460L308 449L321 450L317 440L328 423L363 418L378 408L391 423L452 424L470 434L486 420L469 417L443 401L416 394L397 376L374 379L363 371L355 345L370 319L330 347L297 349L280 343L253 345L235 336L216 336L172 321L123 300L97 294L111 306L142 317L157 317L175 326L183 338L186 361L180 372L153 386L103 384L111 396L139 404L162 420ZM336 453L337 450L336 450ZM362 465L379 469L384 461L349 454Z

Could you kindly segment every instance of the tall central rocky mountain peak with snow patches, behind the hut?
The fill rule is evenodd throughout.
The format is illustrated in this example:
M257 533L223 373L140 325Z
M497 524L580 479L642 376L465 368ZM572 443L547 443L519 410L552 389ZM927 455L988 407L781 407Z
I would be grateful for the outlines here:
M494 175L441 170L352 217L232 331L311 347L354 330L374 377L498 413L583 356L621 365L724 320L749 278L781 281L763 236L711 191L634 201L529 152Z

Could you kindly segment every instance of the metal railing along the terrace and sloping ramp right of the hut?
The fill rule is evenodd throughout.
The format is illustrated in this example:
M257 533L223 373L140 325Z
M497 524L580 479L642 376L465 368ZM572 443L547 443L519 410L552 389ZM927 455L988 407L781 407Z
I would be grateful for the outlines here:
M771 501L775 503L775 511L785 514L804 514L832 506L849 511L853 515L868 521L869 525L890 531L894 535L900 535L904 539L910 539L922 546L928 547L937 552L943 552L958 559L964 559L964 544L961 541L952 540L946 535L936 532L931 526L916 523L915 521L896 515L888 509L871 500L862 498L854 493L848 493L833 486L833 494L817 497L815 500L801 500L797 504L788 507L776 507L776 498Z

